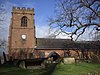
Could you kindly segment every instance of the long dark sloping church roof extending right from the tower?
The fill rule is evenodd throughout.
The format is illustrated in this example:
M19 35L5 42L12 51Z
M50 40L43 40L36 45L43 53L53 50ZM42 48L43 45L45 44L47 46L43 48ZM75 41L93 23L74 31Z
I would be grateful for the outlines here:
M36 49L100 49L100 41L71 41L70 39L37 38Z

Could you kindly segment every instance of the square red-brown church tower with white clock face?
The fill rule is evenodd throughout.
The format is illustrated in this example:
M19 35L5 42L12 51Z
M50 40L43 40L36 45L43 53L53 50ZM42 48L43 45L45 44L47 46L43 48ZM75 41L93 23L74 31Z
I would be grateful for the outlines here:
M13 7L8 37L9 54L16 54L20 50L32 52L35 45L34 9Z

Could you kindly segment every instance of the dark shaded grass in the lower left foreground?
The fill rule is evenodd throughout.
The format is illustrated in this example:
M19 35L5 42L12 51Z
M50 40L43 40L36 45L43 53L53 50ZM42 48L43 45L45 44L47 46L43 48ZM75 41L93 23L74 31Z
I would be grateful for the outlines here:
M43 69L29 70L14 66L0 65L0 75L40 75L43 72L45 72Z

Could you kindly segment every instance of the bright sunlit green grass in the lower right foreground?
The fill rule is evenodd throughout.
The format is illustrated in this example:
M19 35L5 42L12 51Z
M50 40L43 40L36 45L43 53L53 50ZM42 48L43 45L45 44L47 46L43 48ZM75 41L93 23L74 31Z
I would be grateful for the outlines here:
M100 64L76 63L59 64L52 75L80 75L82 73L100 72Z

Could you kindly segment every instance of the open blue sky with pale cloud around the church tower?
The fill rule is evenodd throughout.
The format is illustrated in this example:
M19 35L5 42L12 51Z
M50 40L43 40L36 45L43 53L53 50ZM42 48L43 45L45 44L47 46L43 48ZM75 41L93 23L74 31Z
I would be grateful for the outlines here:
M48 17L54 16L56 0L0 0L0 6L4 5L6 13L4 16L4 22L2 23L3 29L0 29L0 38L8 39L8 30L11 19L12 7L30 7L35 9L35 26L36 37L43 38L49 35ZM0 18L2 15L0 14ZM89 31L89 30L88 30ZM86 40L85 34L82 36L83 40ZM59 35L58 38L68 38L64 34ZM89 39L89 38L87 38Z

